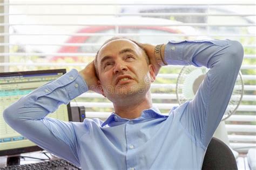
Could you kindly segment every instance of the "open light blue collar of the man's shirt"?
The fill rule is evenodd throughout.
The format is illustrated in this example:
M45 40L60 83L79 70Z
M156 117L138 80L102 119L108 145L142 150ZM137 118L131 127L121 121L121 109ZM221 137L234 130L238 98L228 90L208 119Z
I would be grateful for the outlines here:
M146 118L154 118L154 117L156 117L156 118L168 117L168 115L162 115L160 110L155 105L153 105L152 108L143 110L142 115L133 120L140 121L140 120L143 120ZM116 113L112 112L112 114L106 119L106 121L103 122L102 127L107 124L110 124L113 121L126 122L126 121L129 121L129 119L122 118L122 117L118 116Z

